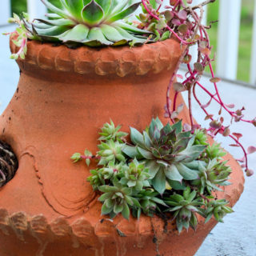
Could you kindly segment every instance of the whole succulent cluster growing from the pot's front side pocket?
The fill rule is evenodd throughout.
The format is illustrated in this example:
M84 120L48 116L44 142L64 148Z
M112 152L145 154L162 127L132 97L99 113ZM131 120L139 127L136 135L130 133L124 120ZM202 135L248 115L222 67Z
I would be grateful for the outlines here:
M98 168L90 170L90 182L102 195L102 214L114 218L135 218L146 214L173 214L178 231L196 229L197 214L206 221L213 215L222 221L232 212L225 200L215 200L212 193L227 186L230 167L222 160L218 144L210 146L204 130L184 131L182 122L162 125L153 118L140 133L130 127L128 135L114 122L106 123L100 132L97 154L85 150L71 159L96 159ZM216 149L218 148L218 153ZM88 164L88 162L86 162Z

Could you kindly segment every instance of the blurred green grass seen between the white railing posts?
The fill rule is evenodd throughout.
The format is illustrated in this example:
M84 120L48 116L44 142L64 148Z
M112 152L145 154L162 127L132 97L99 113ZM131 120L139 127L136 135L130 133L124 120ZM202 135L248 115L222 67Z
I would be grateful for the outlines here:
M36 0L34 0L36 1ZM39 1L39 0L37 0ZM59 4L58 0L50 0L56 6ZM218 0L208 6L207 20L218 20ZM12 10L14 13L20 14L26 11L26 0L12 0ZM254 0L242 0L242 19L239 37L239 51L238 51L238 80L249 82L250 78L250 54L252 42L252 26L253 26L253 10ZM212 25L211 30L208 30L210 35L210 42L213 46L213 54L217 50L218 37L218 23ZM215 63L213 63L215 68Z

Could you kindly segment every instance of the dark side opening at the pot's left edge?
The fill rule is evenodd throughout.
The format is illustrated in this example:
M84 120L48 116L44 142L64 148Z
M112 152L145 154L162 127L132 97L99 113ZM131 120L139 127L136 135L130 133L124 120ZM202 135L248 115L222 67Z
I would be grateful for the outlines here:
M0 188L10 182L18 170L18 159L6 142L0 141Z

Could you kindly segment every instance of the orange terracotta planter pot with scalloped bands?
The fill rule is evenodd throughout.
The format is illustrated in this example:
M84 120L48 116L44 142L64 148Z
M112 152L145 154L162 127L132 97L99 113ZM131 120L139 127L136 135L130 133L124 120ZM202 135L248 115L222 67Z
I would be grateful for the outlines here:
M11 44L14 52L15 46ZM2 139L18 156L15 177L0 190L0 255L194 255L216 222L178 235L174 222L101 216L102 204L86 182L89 169L70 156L95 152L99 128L144 129L163 117L166 86L182 53L168 40L130 48L70 50L28 43L18 60L18 88L0 119ZM182 98L178 98L182 102ZM188 122L187 111L182 118ZM162 118L162 122L167 122ZM219 193L238 201L243 174L228 154L232 186Z

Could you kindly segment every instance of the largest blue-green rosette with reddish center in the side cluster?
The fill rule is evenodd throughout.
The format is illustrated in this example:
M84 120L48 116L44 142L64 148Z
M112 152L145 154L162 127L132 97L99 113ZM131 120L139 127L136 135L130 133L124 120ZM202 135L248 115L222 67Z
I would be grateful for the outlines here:
M152 178L152 186L160 194L166 190L166 182L190 181L198 178L200 162L197 160L205 150L204 145L194 145L195 135L182 132L182 122L166 126L158 118L150 123L143 134L131 128L130 139L134 146L125 146L123 152L130 158L146 159Z

